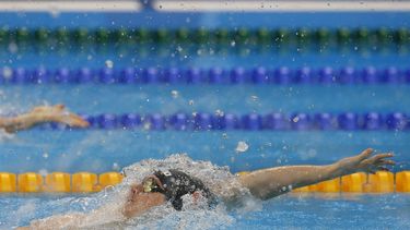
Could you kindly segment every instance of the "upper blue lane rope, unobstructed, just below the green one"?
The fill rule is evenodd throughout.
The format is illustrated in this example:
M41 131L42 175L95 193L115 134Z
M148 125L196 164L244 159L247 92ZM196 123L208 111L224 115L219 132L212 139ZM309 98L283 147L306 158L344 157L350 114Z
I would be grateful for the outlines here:
M389 66L375 69L341 68L289 69L263 68L244 69L179 69L179 68L103 68L92 70L80 68L70 70L61 68L47 70L23 68L0 71L0 84L410 84L410 69Z

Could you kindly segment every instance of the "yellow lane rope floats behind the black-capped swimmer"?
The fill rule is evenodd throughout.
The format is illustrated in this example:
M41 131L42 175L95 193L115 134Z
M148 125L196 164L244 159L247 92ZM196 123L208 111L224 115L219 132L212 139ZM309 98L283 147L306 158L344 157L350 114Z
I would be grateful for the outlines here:
M238 172L246 173L249 172ZM45 177L35 172L0 172L0 193L90 193L116 185L122 178L119 172L105 172L99 175L91 172L52 172ZM410 171L396 174L387 171L378 171L375 174L358 172L300 187L293 192L410 193Z

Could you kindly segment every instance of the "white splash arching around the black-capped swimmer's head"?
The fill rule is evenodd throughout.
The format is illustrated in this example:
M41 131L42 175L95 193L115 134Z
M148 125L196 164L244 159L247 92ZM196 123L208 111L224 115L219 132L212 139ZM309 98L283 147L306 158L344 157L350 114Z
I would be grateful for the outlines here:
M131 184L140 182L155 170L179 169L200 179L221 199L243 197L235 205L238 211L255 210L260 207L247 189L244 189L229 167L218 167L209 161L194 161L187 155L171 155L161 160L147 159L124 169L126 178L117 186L108 187L97 194L80 198L62 198L48 202L46 207L67 207L69 221L65 228L81 229L221 229L235 222L221 202L215 208L206 203L192 203L192 197L184 197L184 208L175 210L171 204L152 208L133 219L126 220L121 215ZM256 201L256 199L254 199ZM258 204L258 205L255 205ZM58 213L57 213L58 215ZM52 218L52 217L51 217ZM46 218L47 219L47 218ZM43 220L37 221L42 225ZM61 227L61 226L59 226Z

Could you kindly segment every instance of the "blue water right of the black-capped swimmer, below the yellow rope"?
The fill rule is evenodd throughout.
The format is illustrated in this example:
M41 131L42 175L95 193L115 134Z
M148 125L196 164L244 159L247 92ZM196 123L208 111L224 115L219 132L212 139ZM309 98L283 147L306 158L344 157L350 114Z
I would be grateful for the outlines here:
M238 218L239 229L408 229L409 195L283 196ZM234 228L232 228L234 229Z

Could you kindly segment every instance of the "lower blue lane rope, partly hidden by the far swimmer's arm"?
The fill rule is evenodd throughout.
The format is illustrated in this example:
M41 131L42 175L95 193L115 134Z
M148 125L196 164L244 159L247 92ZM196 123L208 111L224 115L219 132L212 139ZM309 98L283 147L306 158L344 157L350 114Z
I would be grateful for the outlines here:
M212 114L198 112L194 114L174 113L164 116L151 113L97 114L83 116L90 122L90 129L102 130L152 130L152 131L211 131L211 130L244 130L244 131L409 131L410 117L402 112L391 113L247 113ZM49 130L66 130L66 125L47 123L40 126Z

